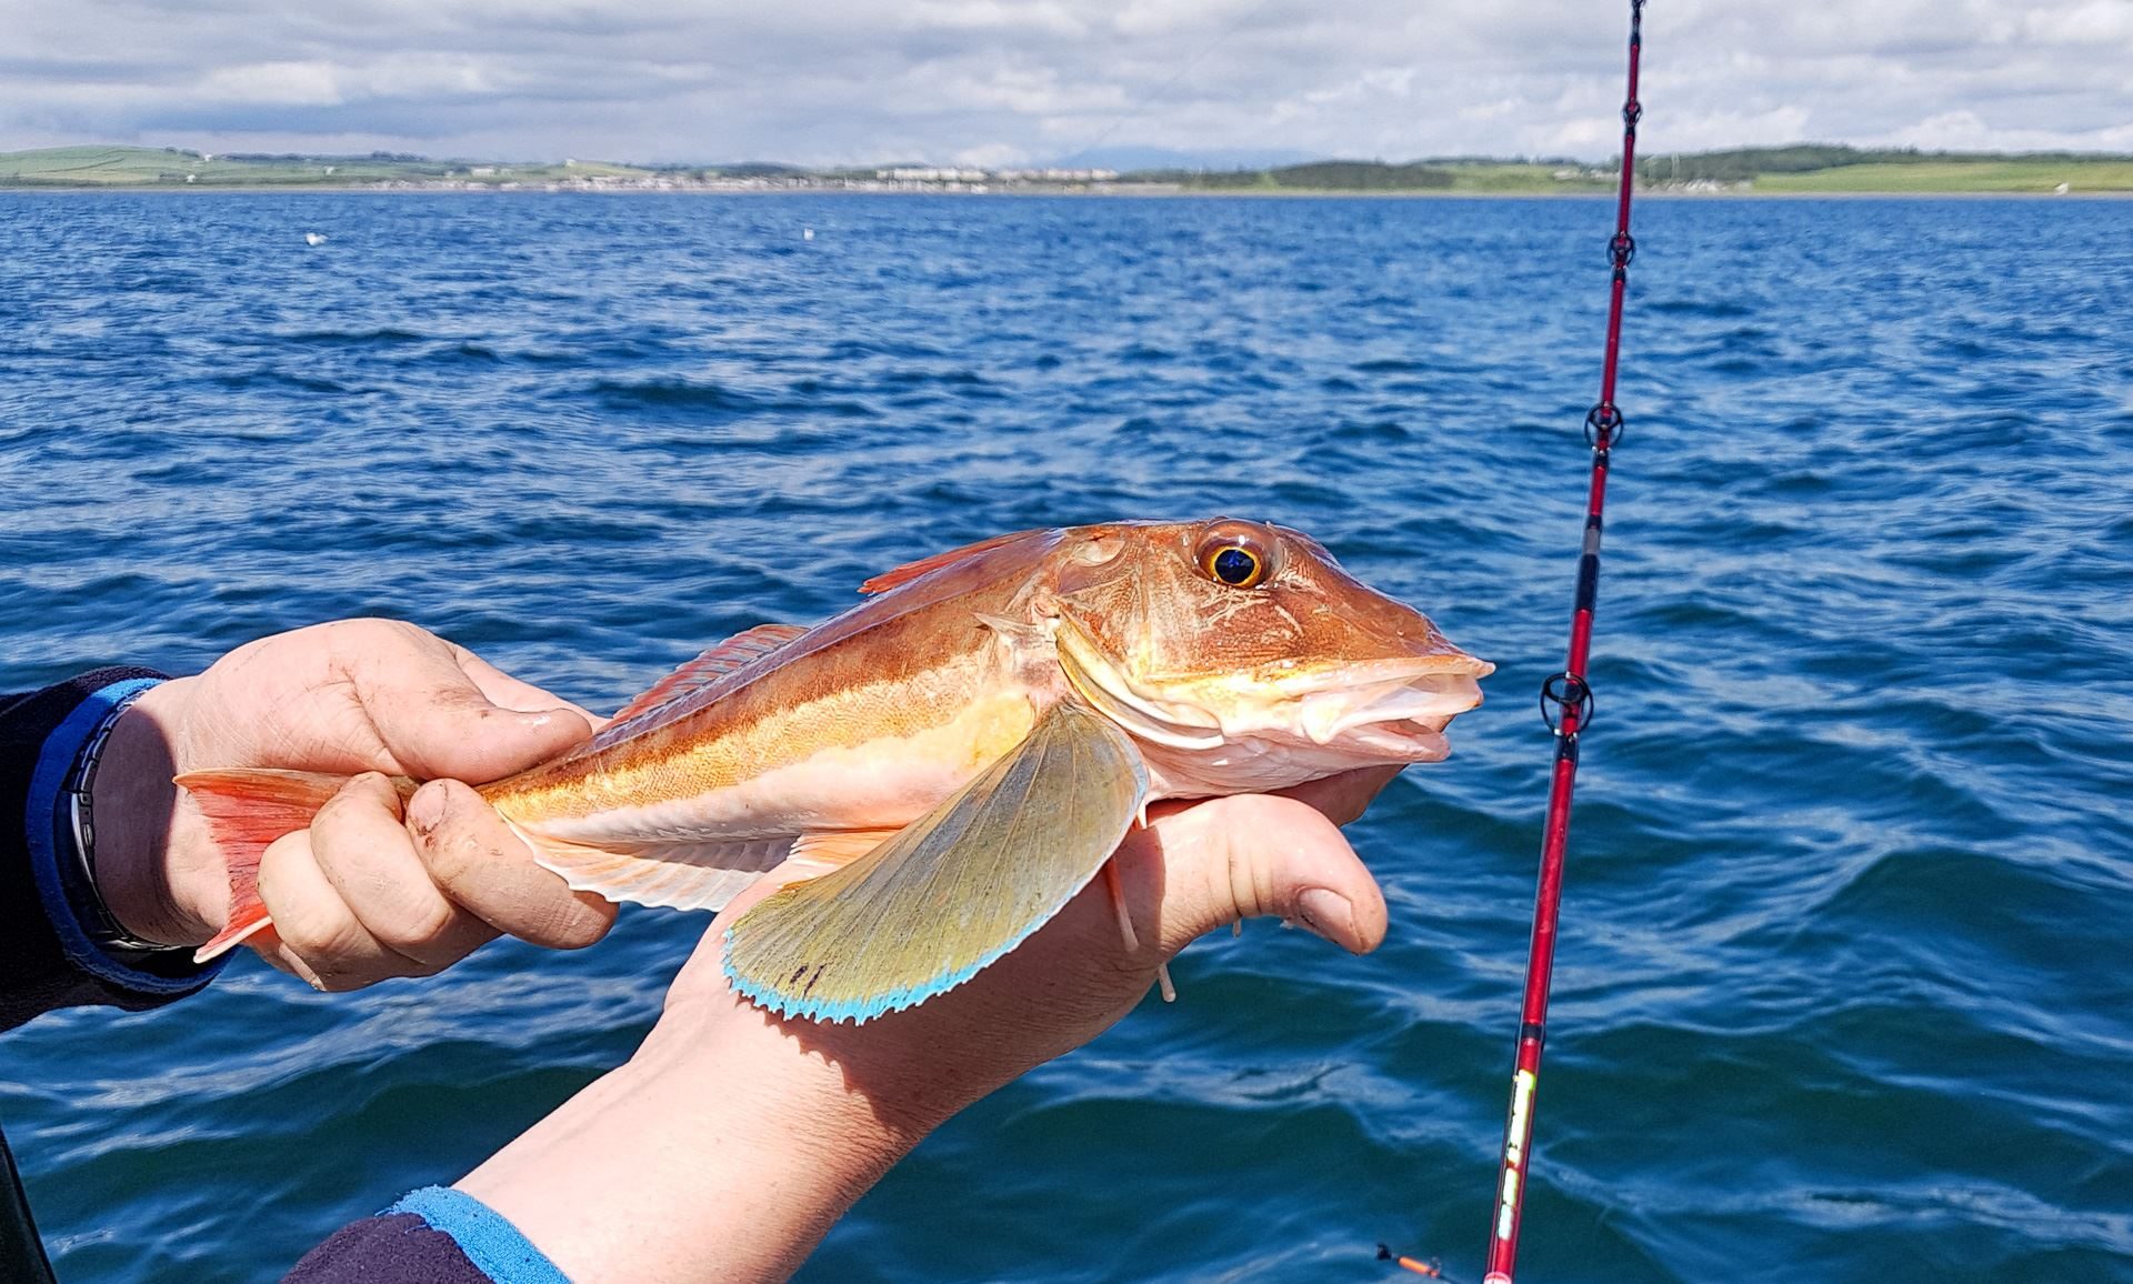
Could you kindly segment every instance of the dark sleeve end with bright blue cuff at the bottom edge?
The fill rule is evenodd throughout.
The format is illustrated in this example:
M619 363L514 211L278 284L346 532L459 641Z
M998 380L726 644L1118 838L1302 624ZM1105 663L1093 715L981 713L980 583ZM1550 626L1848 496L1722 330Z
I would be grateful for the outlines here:
M424 1186L341 1226L282 1284L570 1284L542 1250L471 1194Z

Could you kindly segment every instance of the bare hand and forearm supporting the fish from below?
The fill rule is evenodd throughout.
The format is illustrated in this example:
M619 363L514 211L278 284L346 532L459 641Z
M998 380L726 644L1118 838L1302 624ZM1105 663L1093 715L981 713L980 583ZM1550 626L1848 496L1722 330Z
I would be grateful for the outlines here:
M783 1280L926 1133L1101 1034L1194 936L1278 915L1374 949L1384 896L1335 821L1393 774L1158 806L1118 851L1137 951L1096 879L968 983L862 1026L781 1020L729 988L725 926L766 879L710 926L638 1054L459 1186L580 1284Z

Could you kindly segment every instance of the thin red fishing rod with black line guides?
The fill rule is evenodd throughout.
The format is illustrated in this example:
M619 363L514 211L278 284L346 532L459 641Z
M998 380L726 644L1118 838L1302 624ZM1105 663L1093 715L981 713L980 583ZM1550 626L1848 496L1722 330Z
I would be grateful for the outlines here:
M1570 842L1570 793L1578 776L1578 734L1593 719L1593 689L1585 680L1591 653L1593 606L1600 593L1600 514L1606 505L1606 474L1621 442L1623 418L1615 405L1615 369L1621 356L1621 305L1630 288L1630 190L1636 179L1636 122L1645 107L1636 100L1638 58L1645 49L1645 0L1630 0L1630 87L1621 105L1621 194L1615 200L1615 235L1606 314L1606 360L1600 371L1600 401L1585 414L1585 444L1591 446L1591 484L1585 499L1585 546L1578 552L1576 604L1570 612L1570 655L1563 670L1540 687L1540 717L1555 732L1555 772L1540 845L1540 881L1534 894L1534 938L1525 956L1525 1005L1519 1020L1519 1052L1510 1075L1510 1111L1504 1120L1504 1150L1497 1160L1495 1205L1489 1222L1489 1273L1482 1284L1512 1284L1519 1261L1519 1226L1525 1216L1527 1165L1534 1145L1534 1092L1540 1084L1540 1049L1546 1043L1549 981L1555 973L1555 921L1563 896L1563 849ZM1436 1263L1393 1258L1418 1275L1442 1275Z

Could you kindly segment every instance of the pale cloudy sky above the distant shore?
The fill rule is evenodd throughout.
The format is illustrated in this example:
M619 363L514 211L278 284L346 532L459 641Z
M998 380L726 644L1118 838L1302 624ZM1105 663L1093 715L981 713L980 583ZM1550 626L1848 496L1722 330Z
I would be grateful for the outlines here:
M1045 162L1615 149L1608 0L0 0L0 149ZM2133 151L2133 0L1653 0L1647 151Z

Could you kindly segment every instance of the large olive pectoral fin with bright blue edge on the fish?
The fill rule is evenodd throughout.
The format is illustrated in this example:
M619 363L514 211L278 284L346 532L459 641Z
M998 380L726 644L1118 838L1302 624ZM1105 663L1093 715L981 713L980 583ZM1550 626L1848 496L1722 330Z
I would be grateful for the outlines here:
M1133 740L1060 702L896 838L740 915L725 932L725 975L761 1007L815 1022L926 1002L1096 877L1145 793Z

